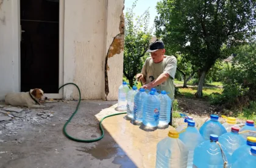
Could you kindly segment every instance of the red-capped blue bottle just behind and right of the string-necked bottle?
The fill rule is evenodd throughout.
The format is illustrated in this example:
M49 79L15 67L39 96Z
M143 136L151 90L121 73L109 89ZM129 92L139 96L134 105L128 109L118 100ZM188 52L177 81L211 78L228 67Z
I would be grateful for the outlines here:
M246 140L239 135L239 128L232 127L231 132L219 136L219 143L226 147L227 153L231 156L236 149L246 144Z

